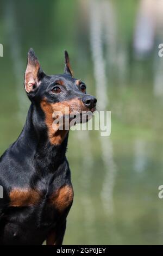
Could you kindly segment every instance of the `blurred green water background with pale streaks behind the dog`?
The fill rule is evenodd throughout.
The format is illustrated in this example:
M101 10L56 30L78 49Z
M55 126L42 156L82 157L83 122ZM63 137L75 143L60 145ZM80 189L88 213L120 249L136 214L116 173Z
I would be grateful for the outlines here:
M0 153L20 134L33 47L47 74L64 69L111 111L111 136L71 131L74 203L65 245L162 244L163 1L0 1ZM28 170L27 170L28 172Z

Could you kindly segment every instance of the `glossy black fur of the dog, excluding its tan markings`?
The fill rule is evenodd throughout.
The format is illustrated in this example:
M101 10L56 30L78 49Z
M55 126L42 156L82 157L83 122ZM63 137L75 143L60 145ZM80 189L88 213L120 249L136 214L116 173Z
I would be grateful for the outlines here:
M28 62L32 65L37 62L32 49L28 54ZM53 231L55 243L62 243L71 204L60 214L48 199L59 188L72 186L70 168L65 156L68 133L60 145L51 144L40 102L45 97L49 103L75 97L81 100L84 97L92 99L92 96L81 92L81 85L76 86L77 80L71 76L69 67L65 68L65 73L47 76L39 68L37 79L40 84L27 93L32 103L26 124L17 141L1 156L0 185L4 189L4 197L0 199L1 245L41 245ZM59 86L62 90L60 94L53 94L52 89L58 80L63 81L65 86ZM39 203L32 206L10 206L9 194L13 188L39 191Z

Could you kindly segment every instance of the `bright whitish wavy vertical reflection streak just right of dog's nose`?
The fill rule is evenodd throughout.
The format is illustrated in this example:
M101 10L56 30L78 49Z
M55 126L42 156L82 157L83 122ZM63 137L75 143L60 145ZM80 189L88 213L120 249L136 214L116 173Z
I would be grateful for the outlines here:
M108 106L107 82L104 65L105 60L103 58L102 45L103 3L105 3L105 1L98 2L92 0L90 4L90 39L99 110L104 110ZM112 143L111 140L106 137L100 137L100 142L102 147L102 159L105 167L105 178L103 182L101 198L106 214L113 214L113 190L115 184L116 167L113 159Z

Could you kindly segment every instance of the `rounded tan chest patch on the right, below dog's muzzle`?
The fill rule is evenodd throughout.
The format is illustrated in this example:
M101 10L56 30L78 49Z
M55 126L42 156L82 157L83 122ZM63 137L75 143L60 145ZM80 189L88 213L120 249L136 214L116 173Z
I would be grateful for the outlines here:
M59 211L63 211L73 202L73 188L70 186L61 187L58 191L55 191L50 197L50 202Z

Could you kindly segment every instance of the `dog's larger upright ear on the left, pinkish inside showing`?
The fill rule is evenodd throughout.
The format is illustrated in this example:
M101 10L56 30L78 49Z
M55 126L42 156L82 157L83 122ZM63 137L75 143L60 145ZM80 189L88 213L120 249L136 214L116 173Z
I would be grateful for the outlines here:
M24 87L27 93L34 92L39 87L45 73L40 67L39 60L32 48L28 51L27 68L24 76Z

